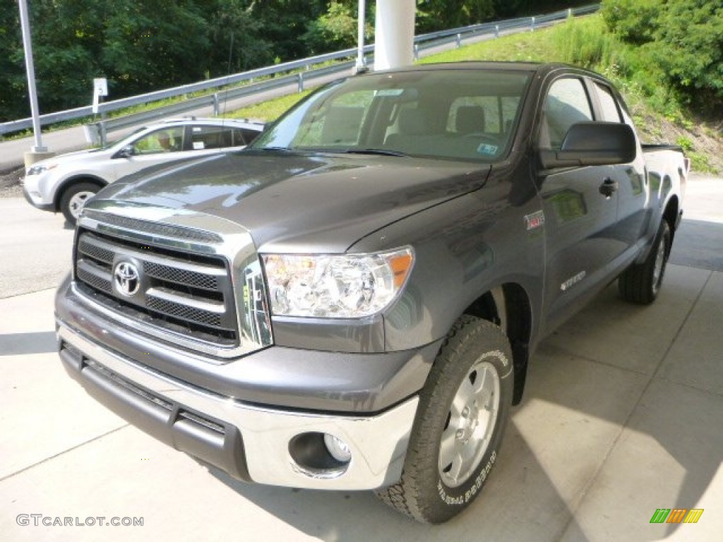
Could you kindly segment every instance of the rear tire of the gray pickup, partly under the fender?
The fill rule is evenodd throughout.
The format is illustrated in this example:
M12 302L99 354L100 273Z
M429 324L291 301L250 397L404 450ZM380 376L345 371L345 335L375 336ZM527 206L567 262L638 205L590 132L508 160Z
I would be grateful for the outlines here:
M667 220L663 219L645 261L628 267L617 280L620 296L623 296L625 301L641 305L649 305L655 301L665 275L671 244L670 226Z

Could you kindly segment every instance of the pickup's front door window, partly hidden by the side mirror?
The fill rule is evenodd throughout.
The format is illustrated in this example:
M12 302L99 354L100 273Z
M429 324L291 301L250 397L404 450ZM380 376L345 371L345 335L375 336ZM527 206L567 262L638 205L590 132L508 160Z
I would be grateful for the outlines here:
M558 79L552 83L545 98L539 146L559 149L570 126L591 120L590 100L581 79Z

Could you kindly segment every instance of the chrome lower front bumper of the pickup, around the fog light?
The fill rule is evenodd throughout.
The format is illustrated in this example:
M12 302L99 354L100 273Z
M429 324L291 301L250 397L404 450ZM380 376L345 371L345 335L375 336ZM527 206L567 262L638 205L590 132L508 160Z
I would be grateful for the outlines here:
M418 397L374 416L282 410L215 395L142 366L58 321L69 374L114 410L166 444L234 478L308 489L376 489L398 481ZM343 468L309 468L292 457L301 434L346 442Z

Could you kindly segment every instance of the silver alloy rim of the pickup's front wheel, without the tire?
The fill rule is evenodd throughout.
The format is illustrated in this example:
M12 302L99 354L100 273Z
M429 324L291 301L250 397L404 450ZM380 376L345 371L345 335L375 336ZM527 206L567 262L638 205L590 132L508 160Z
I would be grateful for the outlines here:
M489 354L488 354L489 355ZM447 414L440 441L440 478L458 487L474 473L489 447L500 411L500 375L483 356L468 371Z

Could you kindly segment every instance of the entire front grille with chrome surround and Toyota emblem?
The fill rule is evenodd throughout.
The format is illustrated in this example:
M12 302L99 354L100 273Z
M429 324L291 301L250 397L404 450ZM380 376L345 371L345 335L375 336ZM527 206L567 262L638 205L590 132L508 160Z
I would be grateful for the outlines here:
M218 220L201 217L211 225ZM134 330L215 356L270 345L265 283L251 237L227 221L218 226L226 236L86 212L76 233L75 289Z

